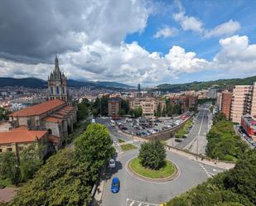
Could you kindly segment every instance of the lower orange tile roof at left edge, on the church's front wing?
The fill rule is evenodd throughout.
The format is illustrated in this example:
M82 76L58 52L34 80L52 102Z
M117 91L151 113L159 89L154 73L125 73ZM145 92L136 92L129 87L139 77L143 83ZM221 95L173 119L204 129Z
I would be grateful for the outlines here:
M41 139L47 131L31 131L27 127L17 127L10 132L0 132L0 144L32 142Z

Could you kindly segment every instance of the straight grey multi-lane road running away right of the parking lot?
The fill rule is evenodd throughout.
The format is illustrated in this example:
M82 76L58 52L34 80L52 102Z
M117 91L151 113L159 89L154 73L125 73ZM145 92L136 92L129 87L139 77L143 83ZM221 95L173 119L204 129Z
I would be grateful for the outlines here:
M207 145L206 134L209 130L210 111L204 105L199 109L196 117L196 122L188 134L186 139L177 144L176 147L180 149L187 149L196 154L205 154L205 146Z

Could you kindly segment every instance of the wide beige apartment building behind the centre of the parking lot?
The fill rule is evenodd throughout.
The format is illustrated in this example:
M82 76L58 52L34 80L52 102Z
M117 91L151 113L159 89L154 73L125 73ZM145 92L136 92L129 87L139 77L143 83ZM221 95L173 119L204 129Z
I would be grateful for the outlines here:
M158 100L156 98L130 98L129 105L130 108L142 107L142 115L144 117L153 117L155 112L157 112L157 105L160 104L160 107L166 108L165 101Z

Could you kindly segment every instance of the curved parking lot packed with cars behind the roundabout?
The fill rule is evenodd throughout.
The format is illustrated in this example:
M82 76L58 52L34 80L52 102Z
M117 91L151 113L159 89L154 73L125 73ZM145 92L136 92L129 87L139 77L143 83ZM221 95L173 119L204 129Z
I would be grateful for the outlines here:
M169 118L123 118L116 121L119 129L131 135L147 137L157 132L167 131L181 124L191 113Z

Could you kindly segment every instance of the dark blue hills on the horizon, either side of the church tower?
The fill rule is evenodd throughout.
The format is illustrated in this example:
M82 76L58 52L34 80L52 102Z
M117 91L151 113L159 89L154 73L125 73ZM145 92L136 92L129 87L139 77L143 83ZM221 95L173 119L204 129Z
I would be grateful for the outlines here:
M129 89L133 88L127 84L121 84L118 82L82 82L76 81L73 79L68 79L67 84L69 87L96 87L96 88L116 88L116 89ZM22 79L15 79L15 78L0 78L0 88L1 87L25 87L25 88L46 88L47 82L43 79L36 79L36 78L22 78Z

